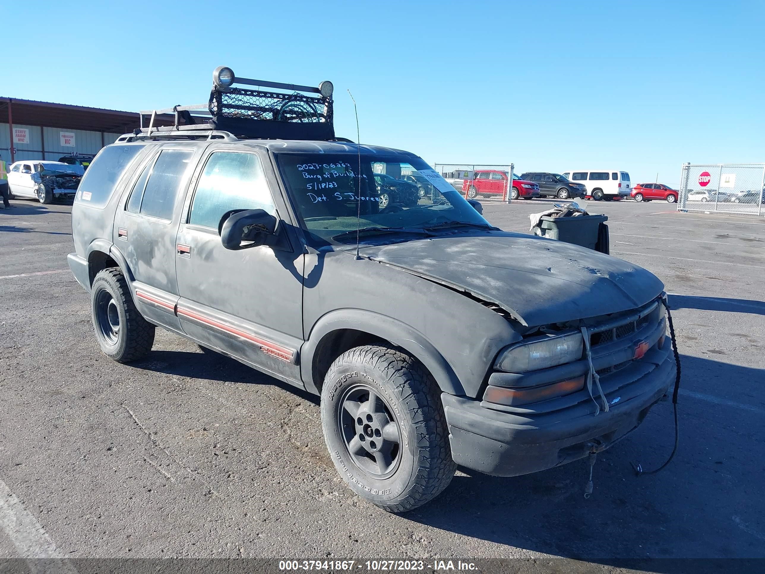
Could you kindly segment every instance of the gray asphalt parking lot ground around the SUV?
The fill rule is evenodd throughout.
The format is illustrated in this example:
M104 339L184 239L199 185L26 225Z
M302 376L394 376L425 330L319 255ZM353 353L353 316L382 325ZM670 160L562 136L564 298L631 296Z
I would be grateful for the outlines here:
M765 556L763 218L591 207L609 217L612 255L672 294L682 390L668 468L630 467L672 449L672 405L659 403L598 458L589 500L584 461L518 478L461 470L396 516L346 488L312 396L161 330L145 360L103 356L67 269L71 207L12 203L0 211L0 557ZM487 201L484 215L527 232L551 203Z

